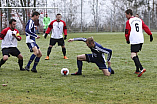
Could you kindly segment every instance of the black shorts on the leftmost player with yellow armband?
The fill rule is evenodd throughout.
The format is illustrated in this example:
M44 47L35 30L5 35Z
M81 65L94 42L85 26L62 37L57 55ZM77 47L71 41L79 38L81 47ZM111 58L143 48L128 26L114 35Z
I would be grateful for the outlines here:
M8 55L11 54L12 56L18 56L21 52L16 48L16 47L10 47L10 48L3 48L2 49L2 54Z

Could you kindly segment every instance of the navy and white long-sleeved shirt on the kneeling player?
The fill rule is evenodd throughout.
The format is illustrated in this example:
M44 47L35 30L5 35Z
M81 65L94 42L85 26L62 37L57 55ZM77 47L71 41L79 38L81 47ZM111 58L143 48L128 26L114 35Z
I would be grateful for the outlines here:
M74 41L84 41L86 42L86 38L74 38ZM97 42L94 42L95 46L93 48L90 48L92 52L92 57L94 57L97 61L103 61L105 60L105 54L107 54L107 61L111 60L112 56L112 50L102 47Z

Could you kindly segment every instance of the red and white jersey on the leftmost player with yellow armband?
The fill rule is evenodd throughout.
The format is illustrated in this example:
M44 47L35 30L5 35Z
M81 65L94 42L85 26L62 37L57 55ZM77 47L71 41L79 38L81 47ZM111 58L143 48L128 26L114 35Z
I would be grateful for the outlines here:
M11 30L10 27L7 27L2 30L0 33L0 39L2 40L1 48L17 47L17 39L12 36L15 34L17 37L20 37L19 31L17 29ZM21 37L20 37L21 39Z

